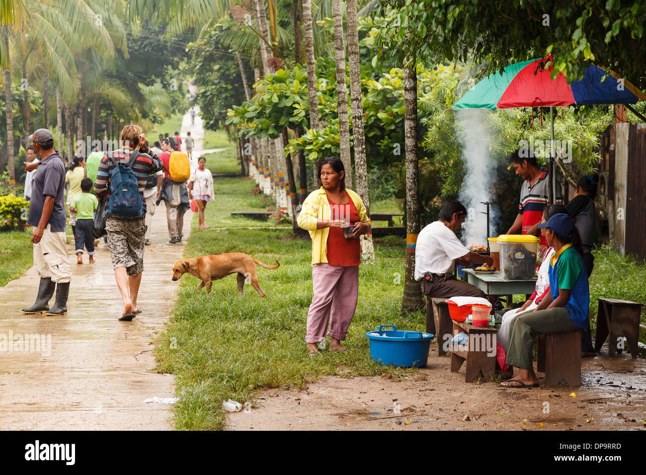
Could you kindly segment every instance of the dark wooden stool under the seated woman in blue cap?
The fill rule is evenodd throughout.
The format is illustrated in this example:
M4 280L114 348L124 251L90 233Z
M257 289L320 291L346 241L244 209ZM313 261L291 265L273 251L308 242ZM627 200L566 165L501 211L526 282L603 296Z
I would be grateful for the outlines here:
M581 330L539 335L537 350L546 386L581 386Z

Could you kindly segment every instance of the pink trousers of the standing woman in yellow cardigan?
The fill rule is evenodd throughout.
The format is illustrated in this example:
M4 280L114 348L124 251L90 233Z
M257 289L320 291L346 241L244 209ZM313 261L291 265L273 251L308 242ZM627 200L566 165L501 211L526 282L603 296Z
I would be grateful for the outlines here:
M328 336L344 340L359 297L359 266L312 266L314 296L307 311L306 343L325 341Z

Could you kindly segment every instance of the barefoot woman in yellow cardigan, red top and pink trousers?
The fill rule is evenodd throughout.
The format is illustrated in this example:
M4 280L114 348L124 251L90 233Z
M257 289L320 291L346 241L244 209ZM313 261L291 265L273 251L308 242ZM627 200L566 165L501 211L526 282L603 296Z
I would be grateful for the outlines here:
M346 172L337 157L321 160L322 187L303 202L298 226L312 238L314 295L307 312L307 350L318 353L318 343L328 335L330 350L346 352L341 341L357 310L359 297L359 236L370 231L366 206L354 191L346 189ZM351 237L344 237L350 227Z

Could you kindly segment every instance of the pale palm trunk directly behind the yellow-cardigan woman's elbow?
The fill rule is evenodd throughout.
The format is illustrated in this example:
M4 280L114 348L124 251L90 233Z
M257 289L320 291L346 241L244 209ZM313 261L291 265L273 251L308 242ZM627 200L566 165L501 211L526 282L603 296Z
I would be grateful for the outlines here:
M368 195L368 165L366 165L366 137L363 127L363 103L361 98L361 59L359 56L359 26L357 25L357 0L346 2L348 18L348 65L350 69L350 98L352 103L352 136L355 149L357 193L366 205L370 217L370 196ZM375 247L372 233L361 237L361 261L375 263Z

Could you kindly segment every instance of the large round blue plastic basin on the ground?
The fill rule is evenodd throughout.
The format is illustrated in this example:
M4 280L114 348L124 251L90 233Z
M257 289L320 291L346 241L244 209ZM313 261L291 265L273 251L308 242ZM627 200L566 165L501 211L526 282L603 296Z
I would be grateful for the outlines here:
M392 330L382 330L392 328ZM428 348L433 335L425 332L397 330L395 325L379 325L377 330L366 332L370 342L370 358L378 364L392 366L426 366Z

